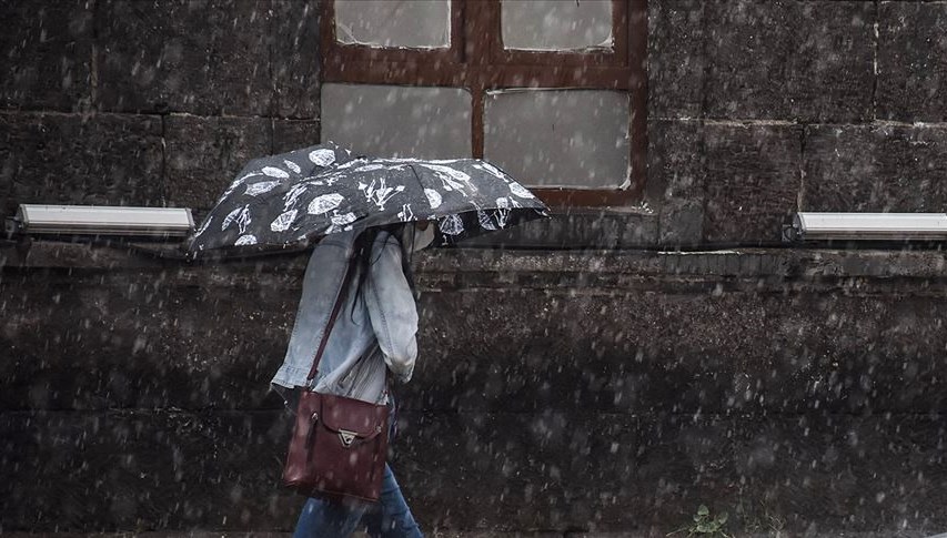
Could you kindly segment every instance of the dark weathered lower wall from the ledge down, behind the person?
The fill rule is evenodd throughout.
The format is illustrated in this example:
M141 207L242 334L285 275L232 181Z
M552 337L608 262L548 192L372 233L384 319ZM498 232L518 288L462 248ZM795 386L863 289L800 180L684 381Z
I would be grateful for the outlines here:
M7 528L292 524L265 385L304 257L18 256L0 283ZM663 534L701 503L744 510L742 530L947 525L940 253L417 262L394 461L429 529Z

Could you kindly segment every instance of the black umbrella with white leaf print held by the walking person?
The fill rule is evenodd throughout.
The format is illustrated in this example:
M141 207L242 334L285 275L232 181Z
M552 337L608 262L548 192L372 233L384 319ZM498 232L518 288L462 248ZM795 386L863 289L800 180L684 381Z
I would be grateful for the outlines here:
M279 251L415 221L437 221L437 241L449 245L542 216L545 204L486 161L353 158L328 143L250 161L189 248Z

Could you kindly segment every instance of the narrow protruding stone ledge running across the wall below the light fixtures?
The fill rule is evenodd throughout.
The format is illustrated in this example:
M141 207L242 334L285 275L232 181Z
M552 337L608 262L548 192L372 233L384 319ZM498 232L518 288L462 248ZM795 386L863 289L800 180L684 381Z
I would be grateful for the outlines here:
M0 243L0 271L170 270L184 272L300 274L305 252L223 262L184 260L177 244L89 244L56 241ZM422 275L536 274L780 277L819 278L924 278L947 277L947 253L938 250L830 250L747 247L717 251L657 250L505 250L443 248L416 254Z

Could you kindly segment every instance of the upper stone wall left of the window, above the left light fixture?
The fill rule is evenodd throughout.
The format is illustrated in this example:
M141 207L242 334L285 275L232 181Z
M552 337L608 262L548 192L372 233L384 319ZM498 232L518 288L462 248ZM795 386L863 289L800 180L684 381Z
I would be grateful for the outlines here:
M250 158L319 139L318 4L6 2L0 213L206 210Z

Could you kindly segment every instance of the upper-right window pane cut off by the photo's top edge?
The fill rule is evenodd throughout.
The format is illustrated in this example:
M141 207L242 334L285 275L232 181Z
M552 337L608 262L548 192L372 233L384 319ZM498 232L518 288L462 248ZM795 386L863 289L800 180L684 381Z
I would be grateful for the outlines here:
M503 47L536 51L612 50L612 0L504 0Z

